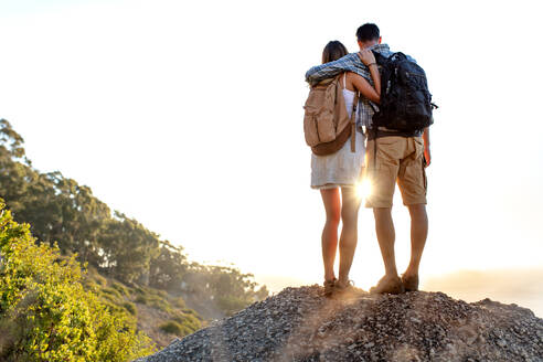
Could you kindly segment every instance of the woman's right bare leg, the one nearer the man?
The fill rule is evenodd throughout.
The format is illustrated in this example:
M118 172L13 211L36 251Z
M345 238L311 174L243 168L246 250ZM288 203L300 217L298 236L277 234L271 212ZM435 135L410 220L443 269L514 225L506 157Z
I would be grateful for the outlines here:
M355 188L341 188L341 221L343 222L343 227L339 242L339 281L347 284L358 242L360 199L356 196Z

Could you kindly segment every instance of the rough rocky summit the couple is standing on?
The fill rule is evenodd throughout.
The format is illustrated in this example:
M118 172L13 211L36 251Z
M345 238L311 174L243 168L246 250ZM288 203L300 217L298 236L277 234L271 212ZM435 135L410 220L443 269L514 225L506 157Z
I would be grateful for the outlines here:
M543 361L543 319L443 292L286 288L137 361Z

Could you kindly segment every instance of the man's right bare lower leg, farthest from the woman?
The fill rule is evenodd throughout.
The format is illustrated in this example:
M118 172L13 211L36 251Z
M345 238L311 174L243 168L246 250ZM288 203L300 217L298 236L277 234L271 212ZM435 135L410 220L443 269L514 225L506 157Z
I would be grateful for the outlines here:
M411 260L404 273L404 278L418 277L418 267L423 256L424 245L428 236L428 215L425 204L409 205L411 214Z

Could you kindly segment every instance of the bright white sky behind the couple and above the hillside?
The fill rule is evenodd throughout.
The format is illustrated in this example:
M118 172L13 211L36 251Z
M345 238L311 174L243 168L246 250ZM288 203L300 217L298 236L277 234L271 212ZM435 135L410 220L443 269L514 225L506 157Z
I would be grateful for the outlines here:
M273 288L321 283L304 74L328 41L354 52L356 28L376 22L440 106L422 272L541 267L536 2L374 3L0 0L0 117L34 167L89 185L192 259ZM402 270L408 217L395 204ZM370 210L359 228L351 277L365 288L383 273Z

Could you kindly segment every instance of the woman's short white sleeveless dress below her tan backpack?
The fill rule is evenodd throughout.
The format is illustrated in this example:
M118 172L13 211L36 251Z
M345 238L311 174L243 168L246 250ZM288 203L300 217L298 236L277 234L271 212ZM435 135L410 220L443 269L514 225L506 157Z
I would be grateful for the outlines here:
M347 113L351 117L354 92L345 88L345 77L347 73L343 76L343 98L345 99ZM359 125L360 116L356 114L355 118L356 125ZM359 130L356 131L355 145L355 151L352 152L351 138L349 138L345 145L332 155L316 156L311 153L311 188L354 187L359 181L365 156L365 136Z

